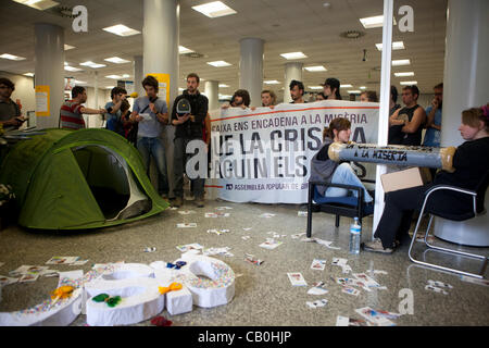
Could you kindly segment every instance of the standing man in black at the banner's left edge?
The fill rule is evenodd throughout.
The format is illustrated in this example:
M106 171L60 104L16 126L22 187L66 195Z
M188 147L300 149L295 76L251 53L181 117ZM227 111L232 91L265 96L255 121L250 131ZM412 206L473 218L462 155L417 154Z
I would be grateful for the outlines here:
M174 175L175 175L175 207L184 203L184 172L187 162L187 145L190 140L202 141L202 127L209 110L209 100L199 91L199 75L191 73L187 76L187 90L175 99L172 110L172 124L175 130L175 152L174 152ZM190 113L177 114L176 108L180 99L187 99L190 104ZM205 171L206 172L206 171ZM204 183L205 178L190 178L192 182L196 204L199 208L204 206Z

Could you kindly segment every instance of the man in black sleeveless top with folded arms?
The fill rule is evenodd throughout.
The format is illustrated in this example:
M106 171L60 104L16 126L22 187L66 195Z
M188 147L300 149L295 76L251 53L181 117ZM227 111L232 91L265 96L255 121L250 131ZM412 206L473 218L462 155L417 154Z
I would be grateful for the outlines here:
M417 86L402 88L402 102L405 107L397 110L389 117L389 145L421 145L426 112L417 104L418 97Z

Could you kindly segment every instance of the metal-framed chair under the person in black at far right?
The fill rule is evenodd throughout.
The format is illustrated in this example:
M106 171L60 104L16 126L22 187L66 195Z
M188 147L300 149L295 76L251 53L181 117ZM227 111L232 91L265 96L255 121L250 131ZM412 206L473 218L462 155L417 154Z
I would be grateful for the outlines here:
M459 251L459 250L454 250L454 249L450 249L450 248L437 247L432 244L429 244L427 237L429 234L429 229L431 228L431 222L432 222L434 216L438 216L438 217L442 217L442 219L447 219L447 220L451 220L451 221L465 221L465 220L473 219L475 216L487 213L487 211L484 207L484 200L485 200L486 190L487 190L488 185L489 185L489 172L486 172L486 175L484 176L484 178L478 184L478 186L475 190L463 189L463 188L450 186L450 185L436 185L436 186L432 186L431 188L429 188L425 192L423 208L419 212L419 217L417 219L416 227L414 228L413 239L411 240L411 246L410 246L410 251L409 251L410 260L413 261L414 263L422 264L424 266L428 266L431 269L449 271L449 272L453 272L453 273L457 273L457 274L462 274L462 275L468 275L468 276L473 276L473 277L477 277L477 278L482 278L484 274L486 272L486 268L487 268L487 262L488 262L487 257L481 256L481 254L476 254L476 253L463 252L463 251ZM434 192L440 191L440 190L456 191L456 192L460 192L463 195L467 195L468 197L472 197L472 201L473 201L472 208L473 209L467 210L467 211L461 211L459 214L448 213L448 212L443 212L443 211L435 210L435 209L431 209L431 210L426 209L426 204L427 204L428 200L432 199L432 197L434 197L431 195ZM416 235L417 235L417 231L419 228L419 223L421 223L421 220L425 212L427 212L429 214L428 227L426 228L425 238L424 238L424 241L425 241L426 246L428 247L427 250L440 251L440 252L454 254L454 256L461 256L461 257L471 258L471 259L478 259L481 262L481 268L480 268L479 273L464 272L461 270L442 266L442 265L430 263L430 262L419 261L414 258L412 249L416 241ZM487 233L487 231L485 231L485 232L482 231L481 233Z

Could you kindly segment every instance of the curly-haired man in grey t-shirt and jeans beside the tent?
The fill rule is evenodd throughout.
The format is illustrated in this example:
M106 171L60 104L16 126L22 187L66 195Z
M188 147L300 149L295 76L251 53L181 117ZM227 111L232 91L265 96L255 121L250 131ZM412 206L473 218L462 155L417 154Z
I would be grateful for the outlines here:
M146 96L135 100L129 121L138 122L136 147L141 153L148 174L150 159L154 159L159 172L158 191L163 199L168 199L165 147L160 138L163 127L168 124L168 109L166 102L158 98L159 84L154 76L147 76L142 80L142 88Z

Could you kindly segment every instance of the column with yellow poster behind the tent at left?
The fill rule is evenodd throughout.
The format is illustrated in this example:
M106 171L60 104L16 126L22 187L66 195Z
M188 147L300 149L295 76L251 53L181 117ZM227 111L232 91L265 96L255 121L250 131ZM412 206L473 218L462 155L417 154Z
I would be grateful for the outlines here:
M64 102L64 29L53 24L35 24L35 83L39 86L37 99L43 110L48 97L49 113L36 107L37 128L57 128L60 109ZM38 97L36 97L38 98ZM39 102L40 101L40 102Z

